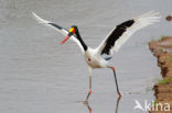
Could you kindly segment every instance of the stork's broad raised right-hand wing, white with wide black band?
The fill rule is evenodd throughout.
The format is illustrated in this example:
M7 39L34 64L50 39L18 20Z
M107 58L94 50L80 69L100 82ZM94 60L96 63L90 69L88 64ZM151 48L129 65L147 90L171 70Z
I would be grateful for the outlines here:
M100 55L109 55L112 54L112 49L118 52L121 45L125 44L136 31L153 24L154 22L159 22L159 19L158 12L150 11L117 25L97 47L97 53Z

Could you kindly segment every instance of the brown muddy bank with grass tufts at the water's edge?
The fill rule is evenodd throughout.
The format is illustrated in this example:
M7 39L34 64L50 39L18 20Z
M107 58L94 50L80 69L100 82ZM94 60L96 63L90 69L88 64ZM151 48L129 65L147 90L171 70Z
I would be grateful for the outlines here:
M172 113L172 36L162 36L159 41L149 43L150 50L158 58L158 66L161 68L162 80L154 84L157 103L169 103L170 111L150 111L150 113Z

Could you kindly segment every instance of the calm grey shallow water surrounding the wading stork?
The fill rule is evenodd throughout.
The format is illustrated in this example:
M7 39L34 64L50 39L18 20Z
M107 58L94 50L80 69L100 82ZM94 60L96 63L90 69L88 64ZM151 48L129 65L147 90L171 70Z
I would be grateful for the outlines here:
M111 65L123 93L118 113L133 111L135 100L144 104L160 78L148 42L171 35L165 16L171 0L1 0L0 3L0 112L1 113L114 113L116 86L109 69L96 69L89 110L82 103L88 91L88 70L77 45L61 45L63 35L37 24L34 11L64 27L78 25L84 41L96 47L117 24L150 10L161 12L161 23L137 32Z

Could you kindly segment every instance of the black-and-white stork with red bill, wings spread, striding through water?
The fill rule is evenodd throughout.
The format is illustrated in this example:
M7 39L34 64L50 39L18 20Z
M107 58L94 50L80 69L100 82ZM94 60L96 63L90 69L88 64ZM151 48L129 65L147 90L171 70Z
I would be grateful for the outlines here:
M92 77L93 77L93 69L95 68L110 68L114 71L117 93L119 97L121 97L121 93L118 88L115 67L108 65L108 61L111 59L112 50L118 52L121 45L125 44L127 39L136 31L146 27L150 24L153 24L154 22L160 21L159 13L154 11L150 11L148 13L144 13L140 16L128 20L117 25L115 29L111 30L111 32L106 36L106 38L100 43L100 45L97 48L90 48L83 41L78 27L76 25L73 25L68 31L54 22L43 20L34 12L33 15L39 21L39 23L43 23L47 26L52 26L58 32L61 32L63 35L65 35L66 37L63 39L62 44L69 38L76 42L79 48L82 49L84 59L88 64L88 70L89 70L89 90L86 97L86 101L88 101L88 98L92 93ZM104 54L107 55L107 57L103 58Z

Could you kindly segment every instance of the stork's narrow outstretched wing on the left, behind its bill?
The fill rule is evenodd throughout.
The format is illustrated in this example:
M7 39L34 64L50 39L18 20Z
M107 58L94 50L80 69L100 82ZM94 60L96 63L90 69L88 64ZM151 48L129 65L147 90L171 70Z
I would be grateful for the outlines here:
M62 33L63 35L67 35L68 34L68 31L62 26L60 26L58 24L54 23L54 22L51 22L51 21L46 21L42 18L40 18L37 14L35 14L34 12L32 12L34 19L39 22L39 23L42 23L46 26L50 26L50 27L53 27L54 30L58 31L60 33ZM75 37L75 35L72 35L69 37L69 39L74 41L77 43L77 45L80 47L82 52L84 52L84 48L83 46L80 45L80 43L78 42L78 39Z

